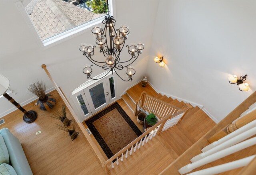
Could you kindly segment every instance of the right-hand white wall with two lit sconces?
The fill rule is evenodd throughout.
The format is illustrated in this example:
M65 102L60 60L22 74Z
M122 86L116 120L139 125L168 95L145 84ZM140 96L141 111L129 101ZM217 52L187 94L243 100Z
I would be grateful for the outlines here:
M204 105L218 121L256 90L256 1L160 0L147 74L159 91ZM154 63L164 55L165 67ZM228 83L247 74L250 89Z

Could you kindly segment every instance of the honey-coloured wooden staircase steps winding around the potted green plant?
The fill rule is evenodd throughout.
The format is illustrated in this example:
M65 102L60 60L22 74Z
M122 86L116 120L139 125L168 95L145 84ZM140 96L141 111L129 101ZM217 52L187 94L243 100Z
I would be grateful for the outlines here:
M183 101L179 102L177 99L158 94L150 85L142 87L138 83L122 96L122 99L133 112L135 112L136 100L140 98L143 91L178 108L182 108L185 104ZM196 124L200 120L202 127L198 128ZM198 106L192 107L176 126L157 135L156 139L149 140L146 147L141 146L140 149L136 150L136 153L129 155L128 159L124 158L123 162L119 161L114 169L110 165L108 174L159 174L214 125L215 122Z

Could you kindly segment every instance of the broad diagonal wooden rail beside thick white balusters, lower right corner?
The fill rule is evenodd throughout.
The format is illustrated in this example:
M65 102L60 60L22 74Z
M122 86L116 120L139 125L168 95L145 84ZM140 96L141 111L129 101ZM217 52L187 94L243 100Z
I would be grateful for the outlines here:
M208 139L227 126L235 119L240 117L240 115L248 109L249 106L256 102L256 91L253 92L246 100L244 100L240 105L238 105L230 114L228 114L223 120L221 120L216 126L214 126L210 131L208 131L202 138L200 138L194 145L188 148L180 157L178 157L175 161L173 161L164 171L162 171L161 175L169 175L172 173L173 175L180 175L178 173L178 169L190 163L190 159L196 156L201 152L201 149L209 144Z

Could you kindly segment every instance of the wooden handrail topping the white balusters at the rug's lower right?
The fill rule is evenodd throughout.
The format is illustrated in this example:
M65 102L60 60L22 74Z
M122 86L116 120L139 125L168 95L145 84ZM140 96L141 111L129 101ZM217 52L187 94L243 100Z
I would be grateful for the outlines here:
M180 114L182 114L183 112L185 112L186 110L188 110L189 108L185 108L182 111L177 112L176 114L169 114L167 116L165 116L163 118L163 120L160 120L160 122L158 122L157 124L154 125L154 127L151 127L149 130L147 130L146 132L144 132L142 135L140 135L138 138L136 138L134 141L132 141L130 144L128 144L126 147L124 147L123 149L121 149L120 151L118 151L118 153L116 153L115 155L113 155L110 159L108 159L106 161L106 164L110 163L111 161L113 161L114 159L116 159L116 157L119 157L120 155L122 155L122 153L124 153L127 149L129 149L130 147L132 147L134 144L136 144L138 141L140 141L142 138L144 138L146 135L150 134L150 132L152 132L153 130L155 130L160 124L162 124L162 126L164 126L164 122L166 122L166 120L169 120L171 118L174 118ZM161 132L161 130L159 130Z

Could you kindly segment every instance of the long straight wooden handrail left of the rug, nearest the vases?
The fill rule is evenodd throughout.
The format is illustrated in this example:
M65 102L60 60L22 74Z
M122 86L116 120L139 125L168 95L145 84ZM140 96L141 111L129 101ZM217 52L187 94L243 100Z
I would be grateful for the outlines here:
M78 116L76 116L76 113L74 112L73 108L70 106L69 102L66 100L64 94L62 93L62 91L60 90L58 85L55 83L55 81L52 79L52 76L50 75L49 71L47 70L46 65L43 64L41 67L42 67L42 69L44 69L44 71L48 75L49 79L52 81L52 84L54 85L54 87L56 88L57 92L59 93L60 97L62 98L63 102L68 107L68 110L72 114L74 120L76 121L76 123L79 126L80 131L82 132L82 136L85 138L85 140L88 141L89 146L92 149L92 152L96 155L96 157L97 157L98 161L100 161L102 167L105 167L106 161L105 161L104 157L102 156L102 154L100 153L100 150L94 144L94 142L92 141L92 138L86 132L86 129L85 129L84 125L80 122L80 120L78 119Z

